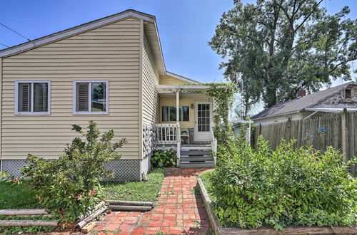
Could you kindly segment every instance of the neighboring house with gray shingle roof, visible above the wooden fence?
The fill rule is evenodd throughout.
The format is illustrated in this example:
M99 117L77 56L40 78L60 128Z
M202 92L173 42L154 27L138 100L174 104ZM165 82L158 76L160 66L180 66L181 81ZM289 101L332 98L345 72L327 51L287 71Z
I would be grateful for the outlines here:
M251 119L255 125L268 125L286 122L289 118L298 120L341 113L345 108L349 112L357 111L357 82L351 81L310 95L306 95L306 91L301 89L297 96L296 99L273 105Z

